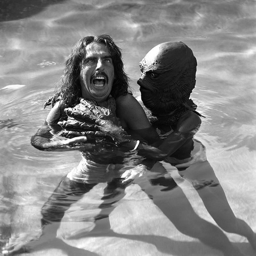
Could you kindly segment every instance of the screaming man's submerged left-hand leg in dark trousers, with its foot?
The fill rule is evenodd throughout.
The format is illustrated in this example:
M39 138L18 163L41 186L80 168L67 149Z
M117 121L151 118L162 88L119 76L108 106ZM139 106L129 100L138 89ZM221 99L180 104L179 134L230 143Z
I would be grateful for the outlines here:
M41 219L42 232L33 237L14 237L3 248L3 255L15 255L28 252L56 238L57 230L60 226L65 212L76 203L86 192L90 191L96 184L83 184L62 178L58 187L54 190L47 202L42 207Z

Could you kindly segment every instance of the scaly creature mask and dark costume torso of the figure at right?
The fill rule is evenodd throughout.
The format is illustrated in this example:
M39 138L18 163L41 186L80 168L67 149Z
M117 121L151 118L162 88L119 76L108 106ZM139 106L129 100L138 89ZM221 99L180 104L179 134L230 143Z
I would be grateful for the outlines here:
M141 100L148 109L148 119L163 139L175 130L180 116L186 112L193 111L202 116L196 111L197 106L193 100L189 99L196 84L197 62L186 44L159 44L146 54L139 65L141 77L138 84ZM168 126L170 129L166 132ZM174 152L172 157L184 159L191 156L194 148L192 137L195 132L196 129L185 145L182 145L179 152Z

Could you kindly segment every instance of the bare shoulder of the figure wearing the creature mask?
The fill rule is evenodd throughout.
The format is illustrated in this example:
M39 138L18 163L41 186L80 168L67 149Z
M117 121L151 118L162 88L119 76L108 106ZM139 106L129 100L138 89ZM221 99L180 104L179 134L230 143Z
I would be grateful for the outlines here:
M187 111L177 123L177 130L179 132L189 132L197 128L202 123L201 118L193 111Z

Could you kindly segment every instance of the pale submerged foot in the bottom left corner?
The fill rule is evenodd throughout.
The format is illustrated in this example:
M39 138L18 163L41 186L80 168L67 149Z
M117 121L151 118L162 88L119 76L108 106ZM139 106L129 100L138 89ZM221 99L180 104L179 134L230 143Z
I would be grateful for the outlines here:
M2 248L2 254L3 256L11 256L19 253L30 252L33 247L36 246L39 237L39 234L36 234L35 236L28 234L12 236L5 247Z

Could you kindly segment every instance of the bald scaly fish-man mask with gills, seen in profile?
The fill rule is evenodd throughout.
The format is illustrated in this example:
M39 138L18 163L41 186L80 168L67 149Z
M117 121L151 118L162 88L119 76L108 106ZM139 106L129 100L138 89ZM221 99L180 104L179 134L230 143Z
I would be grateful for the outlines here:
M196 84L196 58L182 42L165 42L140 61L141 99L154 116L168 114L188 101Z

